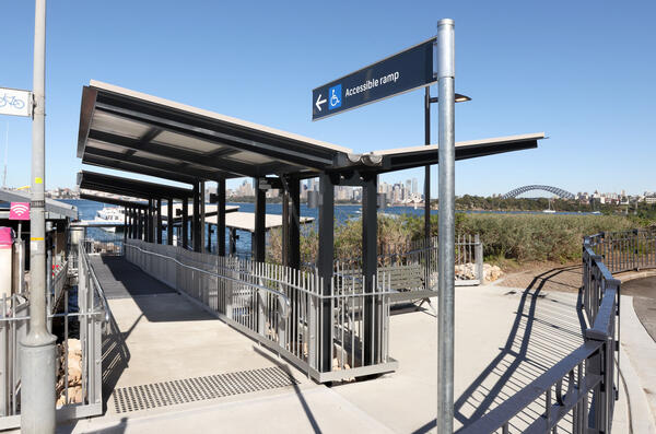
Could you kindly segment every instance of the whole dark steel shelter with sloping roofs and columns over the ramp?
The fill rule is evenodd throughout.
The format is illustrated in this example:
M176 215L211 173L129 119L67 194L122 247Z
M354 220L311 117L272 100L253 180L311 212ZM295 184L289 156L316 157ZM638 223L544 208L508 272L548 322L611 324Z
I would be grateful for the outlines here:
M538 140L543 138L543 133L535 133L460 142L456 144L456 160L537 148ZM85 164L151 175L191 186L190 189L176 187L174 191L174 187L167 190L161 185L154 187L132 179L129 183L118 183L108 175L82 173L81 188L140 197L149 200L149 209L152 208L152 201L157 201L156 208L160 209L161 198L169 198L169 203L172 198L191 199L194 215L202 214L196 210L200 202L204 202L200 200L204 183L216 181L216 225L220 234L225 233L226 226L225 180L253 177L256 193L253 260L256 262L265 261L266 190L281 189L283 262L293 269L301 268L301 180L318 177L320 248L316 270L323 282L320 291L324 298L320 303L324 314L319 315L319 335L324 337L320 342L324 351L320 354L326 359L319 366L327 370L332 366L330 336L333 329L329 297L333 296L335 187L349 185L363 189L362 288L374 291L377 268L378 175L438 164L436 145L358 154L344 146L97 81L92 81L82 91L78 156ZM139 219L142 219L142 211L139 211ZM201 219L204 220L202 216ZM201 226L203 225L195 220L192 239L196 251L203 248ZM147 230L149 234L150 227ZM183 237L186 239L186 236ZM149 235L148 239L161 243L155 236ZM226 256L225 237L219 236L218 239L218 254ZM378 354L384 345L376 335L377 329L375 330L377 308L379 306L373 303L363 306L362 317L367 318L364 335L375 338L364 343L363 356L367 363L380 359ZM293 317L294 315L297 313L292 313Z

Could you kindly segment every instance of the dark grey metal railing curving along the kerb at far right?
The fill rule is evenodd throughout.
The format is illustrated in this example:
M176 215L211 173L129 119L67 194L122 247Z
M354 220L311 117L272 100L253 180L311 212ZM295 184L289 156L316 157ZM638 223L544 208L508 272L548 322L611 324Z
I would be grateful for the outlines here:
M621 282L612 273L656 268L655 251L654 230L585 237L581 289L585 342L460 433L547 433L559 427L575 434L610 433L620 367ZM520 413L538 418L527 422Z

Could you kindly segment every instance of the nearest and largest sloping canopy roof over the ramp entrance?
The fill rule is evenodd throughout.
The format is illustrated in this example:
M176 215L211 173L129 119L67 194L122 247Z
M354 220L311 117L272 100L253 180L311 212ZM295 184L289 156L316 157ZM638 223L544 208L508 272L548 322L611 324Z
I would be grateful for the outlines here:
M348 148L91 81L78 156L96 166L183 183L317 173Z

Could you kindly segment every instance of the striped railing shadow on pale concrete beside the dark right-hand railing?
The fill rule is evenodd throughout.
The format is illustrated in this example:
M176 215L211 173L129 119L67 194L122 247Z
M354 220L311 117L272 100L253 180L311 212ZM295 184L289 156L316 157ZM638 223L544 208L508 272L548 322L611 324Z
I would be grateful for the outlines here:
M505 345L454 404L454 417L462 427L528 386L583 343L585 320L581 312L574 313L581 305L581 295L574 306L542 291L551 279L573 268L557 268L536 275L522 291ZM506 295L516 293L511 290ZM514 418L512 427L522 432L538 417L540 413L526 409ZM432 420L414 433L429 433L435 426Z

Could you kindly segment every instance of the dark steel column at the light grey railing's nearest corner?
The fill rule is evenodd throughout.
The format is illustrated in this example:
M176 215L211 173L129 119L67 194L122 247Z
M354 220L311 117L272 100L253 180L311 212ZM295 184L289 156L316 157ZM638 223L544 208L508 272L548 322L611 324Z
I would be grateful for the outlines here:
M323 279L321 292L324 295L331 295L332 282L332 260L335 253L335 186L327 174L319 175L319 246L317 257L317 270ZM331 350L331 318L332 301L330 298L321 300L321 325L319 336L323 339L319 342L320 372L329 372L332 368Z

